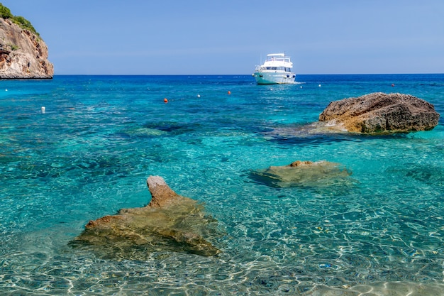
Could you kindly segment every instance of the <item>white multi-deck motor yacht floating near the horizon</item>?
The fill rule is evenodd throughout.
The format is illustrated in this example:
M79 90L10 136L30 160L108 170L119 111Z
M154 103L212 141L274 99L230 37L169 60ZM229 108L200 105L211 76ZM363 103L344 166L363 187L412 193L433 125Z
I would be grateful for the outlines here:
M252 76L257 84L294 83L296 75L292 68L290 57L284 53L270 53L262 65L256 66Z

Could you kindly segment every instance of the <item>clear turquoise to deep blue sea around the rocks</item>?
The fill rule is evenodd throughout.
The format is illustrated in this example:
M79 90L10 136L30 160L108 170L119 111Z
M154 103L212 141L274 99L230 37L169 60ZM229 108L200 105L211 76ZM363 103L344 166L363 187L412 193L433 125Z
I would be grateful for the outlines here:
M444 74L296 81L0 80L0 295L444 295ZM372 92L430 102L438 126L363 135L318 123L330 102ZM254 177L296 160L351 175ZM88 221L147 205L150 176L203 205L221 253L72 247Z

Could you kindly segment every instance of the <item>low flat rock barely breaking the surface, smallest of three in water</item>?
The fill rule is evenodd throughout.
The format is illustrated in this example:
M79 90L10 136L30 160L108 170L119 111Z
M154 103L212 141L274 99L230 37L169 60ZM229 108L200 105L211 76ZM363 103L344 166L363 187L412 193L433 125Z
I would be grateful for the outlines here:
M253 179L272 187L328 187L350 183L350 170L338 163L322 160L317 162L300 161L283 166L270 166L265 170L251 173Z

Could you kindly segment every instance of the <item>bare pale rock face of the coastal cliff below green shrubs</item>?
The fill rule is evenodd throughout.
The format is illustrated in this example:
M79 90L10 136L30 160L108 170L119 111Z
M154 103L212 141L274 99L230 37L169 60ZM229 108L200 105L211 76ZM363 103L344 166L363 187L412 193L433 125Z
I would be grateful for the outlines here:
M48 46L34 33L0 17L0 79L52 78Z

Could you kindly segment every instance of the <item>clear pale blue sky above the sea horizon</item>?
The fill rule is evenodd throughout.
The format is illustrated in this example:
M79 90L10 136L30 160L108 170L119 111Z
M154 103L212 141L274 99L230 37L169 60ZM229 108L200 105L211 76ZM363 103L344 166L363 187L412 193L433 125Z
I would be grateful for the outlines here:
M0 0L49 48L55 75L443 73L443 0Z

